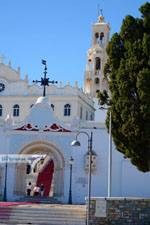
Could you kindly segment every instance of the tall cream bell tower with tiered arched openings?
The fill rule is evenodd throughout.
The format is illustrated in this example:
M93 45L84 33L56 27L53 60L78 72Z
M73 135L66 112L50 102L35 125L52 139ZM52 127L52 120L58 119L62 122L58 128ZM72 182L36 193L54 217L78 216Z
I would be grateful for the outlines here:
M88 93L92 98L96 98L99 91L108 89L103 70L107 62L106 46L109 42L109 31L110 26L104 22L101 10L97 23L92 24L92 45L87 52L84 72L85 93Z

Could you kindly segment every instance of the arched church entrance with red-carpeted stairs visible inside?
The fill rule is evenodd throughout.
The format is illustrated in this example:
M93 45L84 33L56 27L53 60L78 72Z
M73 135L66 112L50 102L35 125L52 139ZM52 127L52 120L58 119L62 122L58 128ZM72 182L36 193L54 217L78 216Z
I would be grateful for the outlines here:
M34 196L34 187L44 185L44 196L61 197L64 195L64 167L65 161L61 151L51 143L36 141L22 148L19 154L39 156L32 164L16 163L16 183L14 194L26 196L26 186L32 184L31 196ZM39 194L40 196L40 191Z

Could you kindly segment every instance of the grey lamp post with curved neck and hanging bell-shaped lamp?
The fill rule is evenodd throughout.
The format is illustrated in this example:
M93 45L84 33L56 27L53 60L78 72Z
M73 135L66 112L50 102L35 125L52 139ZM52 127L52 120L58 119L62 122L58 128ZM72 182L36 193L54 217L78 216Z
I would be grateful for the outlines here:
M72 141L72 146L80 146L80 142L77 140L79 134L86 134L88 136L88 154L89 154L89 173L88 173L88 213L87 213L87 225L90 225L90 200L91 200L91 159L92 159L92 141L93 141L93 132L91 135L87 132L81 131L78 132L75 140Z

